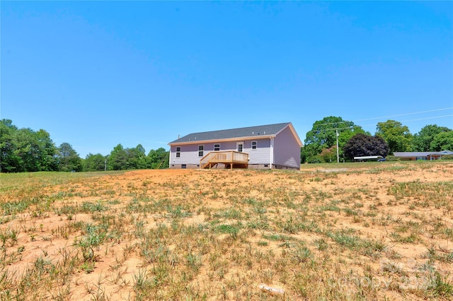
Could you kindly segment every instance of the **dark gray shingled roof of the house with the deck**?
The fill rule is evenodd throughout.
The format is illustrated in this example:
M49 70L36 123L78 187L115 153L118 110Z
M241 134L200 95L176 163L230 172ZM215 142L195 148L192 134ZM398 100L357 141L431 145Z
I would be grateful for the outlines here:
M268 124L263 126L248 126L239 129L223 129L220 131L203 131L201 133L193 133L183 136L172 143L184 143L192 141L207 141L207 140L220 140L227 138L242 138L251 136L272 136L277 134L289 124L289 122L282 124Z

